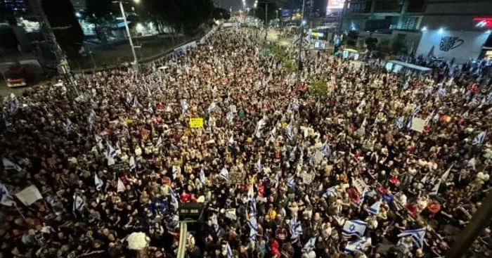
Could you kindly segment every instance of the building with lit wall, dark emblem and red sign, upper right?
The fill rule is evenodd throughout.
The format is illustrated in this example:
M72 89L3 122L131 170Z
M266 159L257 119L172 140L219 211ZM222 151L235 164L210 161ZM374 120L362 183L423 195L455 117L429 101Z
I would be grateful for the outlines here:
M337 4L340 2L344 4L339 29L357 31L362 42L365 37L384 41L392 53L398 51L394 47L398 42L416 56L456 63L492 56L491 40L487 40L492 30L492 1L341 0Z

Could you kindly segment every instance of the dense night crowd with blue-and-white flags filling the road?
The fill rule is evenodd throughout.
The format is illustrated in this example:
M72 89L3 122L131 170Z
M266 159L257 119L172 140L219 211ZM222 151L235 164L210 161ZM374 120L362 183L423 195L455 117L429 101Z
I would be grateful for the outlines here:
M136 257L135 232L138 255L176 257L187 202L207 209L187 257L444 257L491 187L485 79L315 52L297 84L255 34L78 75L75 101L7 96L0 257ZM42 198L15 197L28 186ZM492 256L490 232L467 257Z

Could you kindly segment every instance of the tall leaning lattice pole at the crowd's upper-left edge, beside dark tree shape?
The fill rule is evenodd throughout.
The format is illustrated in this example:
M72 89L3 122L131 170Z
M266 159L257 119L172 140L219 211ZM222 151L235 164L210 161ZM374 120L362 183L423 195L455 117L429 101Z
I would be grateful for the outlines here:
M77 82L74 77L70 73L70 66L68 65L67 58L63 53L58 41L56 41L55 34L53 33L53 29L48 22L48 18L43 11L43 6L41 4L42 0L30 0L30 6L32 7L32 11L34 15L37 16L37 20L39 22L39 28L41 29L41 33L43 34L44 40L51 46L51 51L55 53L56 61L58 63L57 70L58 76L63 82L65 89L67 89L67 97L70 100L74 100L79 96L79 89L77 89Z

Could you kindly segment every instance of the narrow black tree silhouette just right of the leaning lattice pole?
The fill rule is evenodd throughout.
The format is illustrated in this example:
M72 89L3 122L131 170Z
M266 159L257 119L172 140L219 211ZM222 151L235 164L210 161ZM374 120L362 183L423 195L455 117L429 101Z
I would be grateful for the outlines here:
M41 6L60 47L67 56L78 56L84 33L70 0L43 0Z

